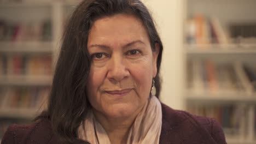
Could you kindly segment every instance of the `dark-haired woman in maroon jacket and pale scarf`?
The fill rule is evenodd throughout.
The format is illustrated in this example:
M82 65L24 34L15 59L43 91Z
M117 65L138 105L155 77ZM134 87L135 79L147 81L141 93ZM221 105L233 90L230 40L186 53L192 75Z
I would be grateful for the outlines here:
M226 143L213 119L160 103L161 55L140 1L83 1L63 34L48 110L11 125L2 143Z

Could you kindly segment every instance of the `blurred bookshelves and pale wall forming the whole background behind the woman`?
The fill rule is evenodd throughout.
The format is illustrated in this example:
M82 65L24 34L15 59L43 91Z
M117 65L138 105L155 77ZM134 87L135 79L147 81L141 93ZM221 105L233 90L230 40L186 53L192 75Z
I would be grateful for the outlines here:
M161 100L256 143L256 1L144 0L164 44ZM45 109L77 0L0 0L0 140Z

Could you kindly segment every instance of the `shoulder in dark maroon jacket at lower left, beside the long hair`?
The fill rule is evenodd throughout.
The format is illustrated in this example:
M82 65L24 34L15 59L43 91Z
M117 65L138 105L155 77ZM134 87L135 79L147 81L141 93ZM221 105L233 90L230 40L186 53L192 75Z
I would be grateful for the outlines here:
M46 119L40 119L32 124L13 124L3 136L2 144L14 143L53 143L55 136L51 124Z

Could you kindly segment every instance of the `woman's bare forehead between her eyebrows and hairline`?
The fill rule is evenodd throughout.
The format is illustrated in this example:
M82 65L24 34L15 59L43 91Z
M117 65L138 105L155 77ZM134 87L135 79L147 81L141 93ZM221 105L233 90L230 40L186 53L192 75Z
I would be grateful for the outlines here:
M146 28L141 20L133 15L117 14L94 22L89 33L88 45L121 45L135 40L149 43Z

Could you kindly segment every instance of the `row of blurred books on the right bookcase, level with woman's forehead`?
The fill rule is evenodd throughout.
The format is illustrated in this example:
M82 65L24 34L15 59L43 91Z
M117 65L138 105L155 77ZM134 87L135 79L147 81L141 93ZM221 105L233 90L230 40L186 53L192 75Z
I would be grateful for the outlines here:
M256 43L256 23L230 23L223 26L217 17L200 14L187 22L187 43L197 45Z

